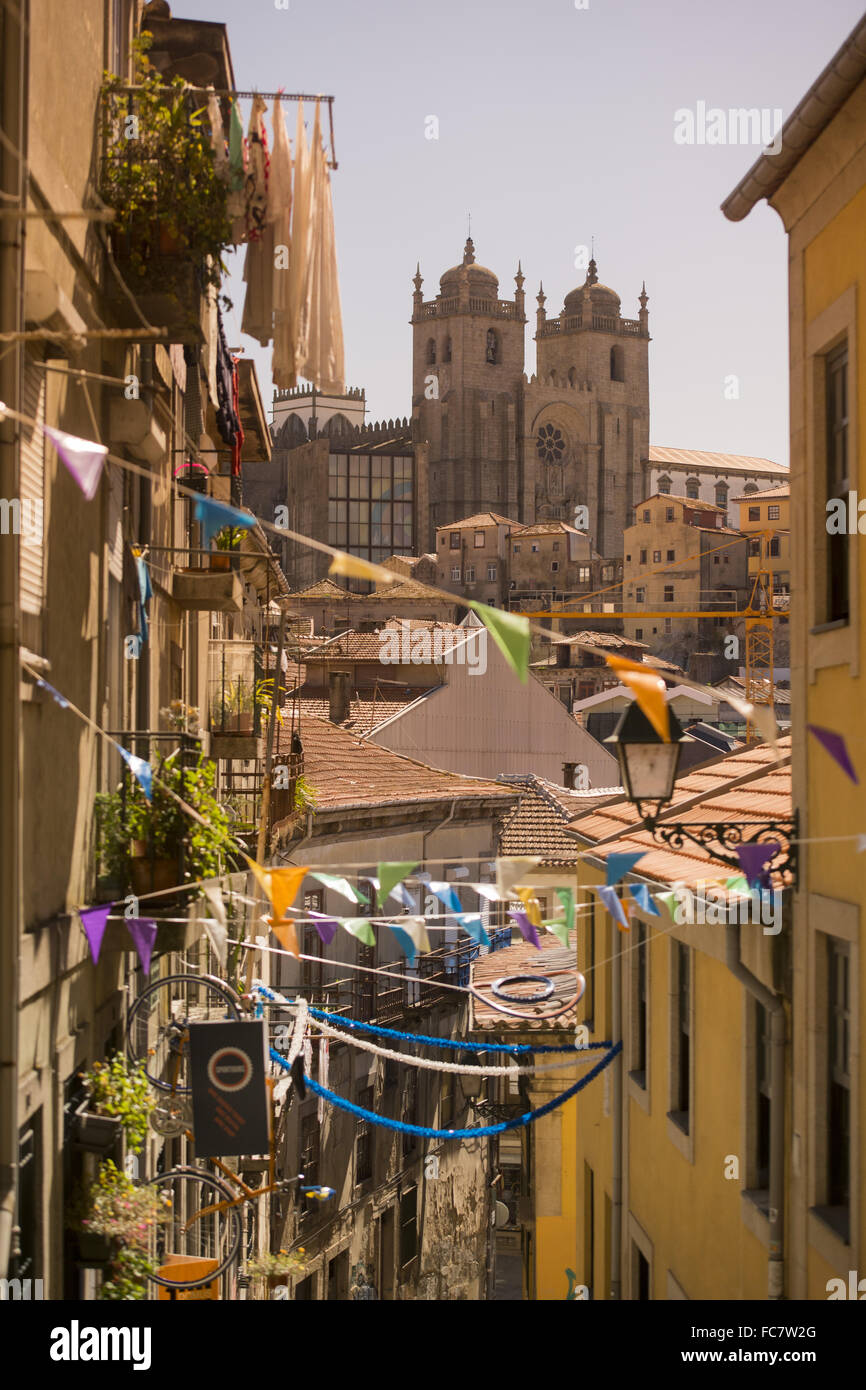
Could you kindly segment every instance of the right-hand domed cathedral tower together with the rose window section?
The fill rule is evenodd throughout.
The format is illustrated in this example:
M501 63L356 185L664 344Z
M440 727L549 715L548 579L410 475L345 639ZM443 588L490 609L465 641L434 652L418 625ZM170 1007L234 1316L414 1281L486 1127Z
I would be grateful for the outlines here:
M594 549L623 556L623 528L645 496L649 460L649 316L646 286L637 318L599 284L585 282L548 318L538 293L537 374L523 391L521 499L525 520L574 520L588 509Z

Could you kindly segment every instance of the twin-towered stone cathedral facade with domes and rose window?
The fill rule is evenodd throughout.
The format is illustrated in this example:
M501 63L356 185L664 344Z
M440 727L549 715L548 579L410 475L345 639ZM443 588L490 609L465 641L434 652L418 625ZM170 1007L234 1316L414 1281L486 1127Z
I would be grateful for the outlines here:
M527 377L524 279L518 264L514 297L500 299L471 238L435 299L424 299L416 271L411 416L427 445L427 548L436 527L496 512L520 523L577 518L598 553L621 559L649 480L646 288L637 318L623 318L595 260L559 314L548 318L539 288Z

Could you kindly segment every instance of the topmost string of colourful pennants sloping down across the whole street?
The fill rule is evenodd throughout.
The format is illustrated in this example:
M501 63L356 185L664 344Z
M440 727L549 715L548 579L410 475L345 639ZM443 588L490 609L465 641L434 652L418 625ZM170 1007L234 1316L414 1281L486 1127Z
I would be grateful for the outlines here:
M106 461L111 461L121 468L131 470L153 481L153 475L147 470L140 468L129 459L121 459L117 455L110 453L106 445L90 439L81 439L63 430L56 430L51 425L33 420L29 416L11 410L0 402L0 420L7 416L19 420L24 424L42 428L44 436L53 443L58 459L75 480L86 500L92 500L96 495ZM370 580L375 584L400 582L400 575L395 574L392 570L384 569L381 564L374 564L360 556L336 550L334 546L316 541L313 537L289 531L285 527L275 527L271 523L256 517L252 512L240 507L232 507L225 502L217 502L214 498L209 498L190 488L185 488L182 484L177 484L177 486L181 493L188 495L193 500L193 516L195 520L202 524L204 548L210 545L211 538L224 527L250 528L260 525L265 531L272 531L281 538L288 537L300 545L328 553L331 556L331 574L339 574L346 578ZM453 594L448 594L442 589L434 588L432 585L424 587L431 595L439 595L448 599L453 599L455 596ZM550 632L538 624L531 624L530 620L521 613L510 613L505 609L495 609L487 603L478 602L477 599L464 598L461 602L477 613L506 662L524 684L528 681L530 676L531 631L534 630L539 635L548 638L560 635ZM670 742L669 706L666 699L667 687L663 678L638 662L630 662L621 656L605 655L605 660L619 676L621 682L632 691L639 709L644 712L659 737L664 742ZM699 691L710 689L710 687L702 685L698 681L685 680L681 684L687 684ZM741 699L733 692L726 692L724 698L726 702L737 709L744 719L751 719L765 741L770 744L774 751L777 751L778 726L776 723L773 708L770 705L753 705L751 701ZM837 763L837 766L845 773L845 776L852 783L859 785L859 777L848 752L845 735L837 730L824 728L819 724L808 724L806 728Z

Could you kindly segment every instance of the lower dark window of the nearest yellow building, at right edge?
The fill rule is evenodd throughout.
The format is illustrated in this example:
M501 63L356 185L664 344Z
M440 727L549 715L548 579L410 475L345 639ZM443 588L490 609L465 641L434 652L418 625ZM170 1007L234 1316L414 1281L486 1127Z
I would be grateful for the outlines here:
M851 955L827 938L827 1205L841 1218L848 1238L851 1204ZM835 1222L834 1222L835 1225Z

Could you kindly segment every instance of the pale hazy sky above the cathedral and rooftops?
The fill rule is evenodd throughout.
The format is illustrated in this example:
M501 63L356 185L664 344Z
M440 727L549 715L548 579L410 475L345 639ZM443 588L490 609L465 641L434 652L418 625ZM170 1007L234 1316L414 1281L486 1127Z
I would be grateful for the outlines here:
M559 313L584 281L575 247L595 236L626 317L646 279L652 442L787 461L787 239L766 203L738 224L719 207L759 147L678 145L674 113L703 101L787 118L858 22L856 0L288 3L172 10L228 24L240 89L336 97L346 379L366 386L368 420L410 413L416 261L432 299L471 213L502 297L523 261L528 373L538 282ZM236 277L229 295L229 342L253 352L270 402L270 350L239 336Z

